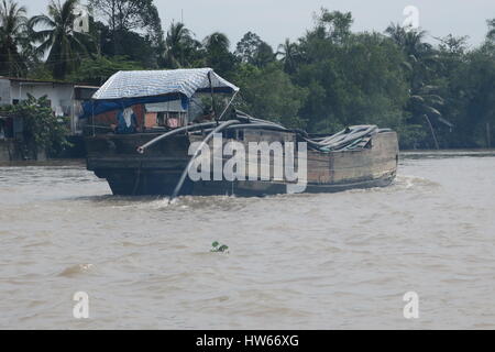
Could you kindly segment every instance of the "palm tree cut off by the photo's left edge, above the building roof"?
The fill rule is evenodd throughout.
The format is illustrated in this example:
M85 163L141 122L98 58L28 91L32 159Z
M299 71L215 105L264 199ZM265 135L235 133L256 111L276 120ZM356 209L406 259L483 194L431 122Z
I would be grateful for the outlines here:
M12 0L0 4L0 75L22 76L26 64L20 52L28 41L26 9Z

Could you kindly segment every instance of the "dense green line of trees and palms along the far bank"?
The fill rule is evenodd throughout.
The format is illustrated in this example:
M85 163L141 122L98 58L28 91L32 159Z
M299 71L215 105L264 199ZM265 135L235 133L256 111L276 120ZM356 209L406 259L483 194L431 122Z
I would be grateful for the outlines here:
M212 67L241 87L239 109L312 133L373 123L404 148L491 147L495 125L495 19L484 42L433 37L392 23L352 32L350 12L320 9L297 41L273 48L248 32L198 40L184 23L166 31L153 0L88 0L89 31L74 30L78 0L52 0L28 18L0 4L0 75L101 85L122 69Z

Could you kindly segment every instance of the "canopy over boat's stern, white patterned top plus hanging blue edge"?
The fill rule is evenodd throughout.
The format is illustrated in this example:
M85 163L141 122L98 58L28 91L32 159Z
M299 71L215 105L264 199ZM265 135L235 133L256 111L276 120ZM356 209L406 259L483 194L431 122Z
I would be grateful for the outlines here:
M232 94L239 88L212 68L129 70L111 76L84 105L81 118L123 109L139 103L180 100L186 109L196 92Z

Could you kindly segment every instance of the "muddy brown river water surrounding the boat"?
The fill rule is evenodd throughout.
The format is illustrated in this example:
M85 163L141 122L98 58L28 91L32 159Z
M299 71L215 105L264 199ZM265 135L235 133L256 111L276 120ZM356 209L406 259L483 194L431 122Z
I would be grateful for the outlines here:
M494 329L495 152L404 153L387 188L173 205L81 162L1 165L0 253L2 329Z

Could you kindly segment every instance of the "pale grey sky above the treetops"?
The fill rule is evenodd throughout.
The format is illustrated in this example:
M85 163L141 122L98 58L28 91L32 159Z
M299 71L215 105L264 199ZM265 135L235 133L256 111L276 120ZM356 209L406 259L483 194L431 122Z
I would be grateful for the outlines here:
M28 8L29 15L45 12L48 0L18 0ZM285 38L296 41L310 29L314 14L321 7L351 11L353 31L383 32L391 22L404 23L411 15L406 7L417 9L419 28L427 38L448 34L468 35L471 46L483 42L487 32L486 20L495 18L495 0L155 0L166 30L172 21L184 20L198 40L219 31L231 41L231 48L244 33L251 31L275 50ZM81 3L85 3L82 0Z

